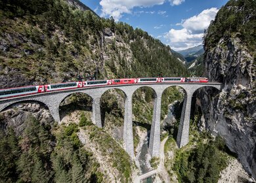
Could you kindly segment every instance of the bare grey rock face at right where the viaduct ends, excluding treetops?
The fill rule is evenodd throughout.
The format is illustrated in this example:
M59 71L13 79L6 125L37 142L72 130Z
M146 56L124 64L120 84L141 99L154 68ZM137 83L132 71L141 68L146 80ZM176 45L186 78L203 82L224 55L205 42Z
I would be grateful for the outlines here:
M205 71L211 81L222 82L219 97L201 90L206 129L221 135L238 154L245 171L256 177L256 95L253 56L238 38L221 39L205 52Z

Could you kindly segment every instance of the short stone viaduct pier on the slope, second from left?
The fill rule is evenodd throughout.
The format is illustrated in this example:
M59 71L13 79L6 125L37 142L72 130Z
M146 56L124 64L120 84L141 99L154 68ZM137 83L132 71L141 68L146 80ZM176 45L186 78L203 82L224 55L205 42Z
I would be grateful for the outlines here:
M102 127L101 113L100 113L100 97L93 97L93 124L97 127Z

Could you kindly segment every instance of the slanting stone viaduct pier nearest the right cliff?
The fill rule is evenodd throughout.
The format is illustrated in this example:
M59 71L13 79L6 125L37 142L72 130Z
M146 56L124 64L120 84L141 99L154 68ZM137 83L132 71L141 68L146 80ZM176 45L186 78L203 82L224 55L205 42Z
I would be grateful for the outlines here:
M190 125L190 109L192 101L192 93L186 91L184 103L181 112L181 121L177 135L177 145L179 148L188 144L189 125Z

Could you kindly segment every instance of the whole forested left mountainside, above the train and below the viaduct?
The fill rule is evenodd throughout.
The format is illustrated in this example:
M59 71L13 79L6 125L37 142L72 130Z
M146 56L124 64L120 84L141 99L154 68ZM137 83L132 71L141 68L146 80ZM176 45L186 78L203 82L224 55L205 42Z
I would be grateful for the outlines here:
M142 29L99 18L79 1L0 0L0 25L1 89L95 73L96 79L189 75L169 46ZM167 88L162 99L163 118L182 93ZM92 124L92 99L84 93L62 101L60 125L39 102L7 108L0 113L0 180L132 182L138 167L123 150L124 102L121 90L102 95L102 129ZM152 88L134 93L135 149L141 133L147 137L153 104Z

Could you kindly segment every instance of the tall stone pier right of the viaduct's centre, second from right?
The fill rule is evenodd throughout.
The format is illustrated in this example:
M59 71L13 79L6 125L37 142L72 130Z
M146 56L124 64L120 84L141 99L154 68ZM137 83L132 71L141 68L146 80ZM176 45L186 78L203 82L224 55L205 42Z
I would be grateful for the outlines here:
M161 92L156 91L154 111L150 129L149 151L152 157L160 156L160 117L161 117Z

